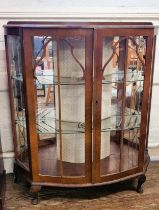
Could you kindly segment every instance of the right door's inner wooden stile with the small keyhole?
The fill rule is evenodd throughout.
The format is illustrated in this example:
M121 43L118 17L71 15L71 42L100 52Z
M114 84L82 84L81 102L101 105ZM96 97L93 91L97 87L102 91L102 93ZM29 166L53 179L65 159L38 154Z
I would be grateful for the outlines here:
M92 182L100 177L100 136L102 97L102 36L94 30L94 78L93 78L93 172ZM97 59L98 58L98 59Z

